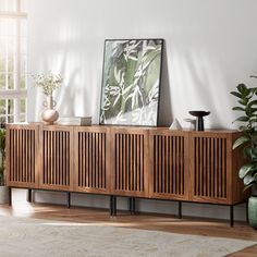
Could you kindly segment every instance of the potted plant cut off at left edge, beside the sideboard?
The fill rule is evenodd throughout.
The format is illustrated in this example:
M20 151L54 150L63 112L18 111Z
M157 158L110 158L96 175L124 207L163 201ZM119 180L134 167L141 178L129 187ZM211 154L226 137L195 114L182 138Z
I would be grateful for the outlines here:
M5 185L5 128L0 127L0 204L9 203L9 188Z

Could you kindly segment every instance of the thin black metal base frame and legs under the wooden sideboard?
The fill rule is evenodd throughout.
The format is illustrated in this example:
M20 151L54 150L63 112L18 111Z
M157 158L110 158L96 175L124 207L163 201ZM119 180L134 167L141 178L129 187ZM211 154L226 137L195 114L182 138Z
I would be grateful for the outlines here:
M13 187L14 188L14 187ZM21 187L17 187L21 188ZM22 187L24 188L24 187ZM25 188L27 189L27 201L33 201L33 188ZM41 191L41 189L40 189ZM46 189L49 191L49 189ZM84 193L83 193L84 194ZM117 216L117 197L115 195L110 195L110 216ZM127 196L119 196L119 197L127 197ZM139 197L137 197L139 198ZM136 215L136 197L127 197L128 199L128 211L131 215ZM144 198L144 199L150 199L150 198ZM155 199L155 198L152 198ZM158 200L158 199L155 199ZM159 200L169 200L169 199L159 199ZM212 204L212 203L198 203L198 201L182 201L182 200L170 200L170 201L178 201L178 218L182 219L182 204L183 203L192 203L192 204L207 204L207 205L220 205L220 206L229 206L230 207L230 227L234 225L234 206L243 204L238 203L235 205L223 205L223 204ZM12 205L12 187L9 187L9 205ZM66 208L71 208L71 192L66 192ZM246 207L246 221L248 222L248 208Z

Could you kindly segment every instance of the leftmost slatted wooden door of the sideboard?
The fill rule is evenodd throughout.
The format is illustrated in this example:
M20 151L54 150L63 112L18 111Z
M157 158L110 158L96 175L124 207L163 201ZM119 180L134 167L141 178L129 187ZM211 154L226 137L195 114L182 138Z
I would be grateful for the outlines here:
M8 125L7 184L38 186L38 125Z

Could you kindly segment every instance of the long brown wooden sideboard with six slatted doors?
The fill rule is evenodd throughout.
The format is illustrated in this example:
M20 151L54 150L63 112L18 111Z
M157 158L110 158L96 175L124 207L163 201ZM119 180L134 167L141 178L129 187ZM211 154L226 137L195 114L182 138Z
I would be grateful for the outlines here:
M164 127L7 126L8 185L30 189L206 203L231 207L248 194L237 171L235 131L170 131Z

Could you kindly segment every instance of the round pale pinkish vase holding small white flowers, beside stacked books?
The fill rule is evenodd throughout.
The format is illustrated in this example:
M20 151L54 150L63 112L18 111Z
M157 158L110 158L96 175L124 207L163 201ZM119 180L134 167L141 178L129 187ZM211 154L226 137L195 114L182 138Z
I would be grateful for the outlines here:
M41 118L45 124L52 125L59 118L59 113L53 109L56 101L52 99L52 95L47 96L47 100L44 102L46 110L44 110Z

